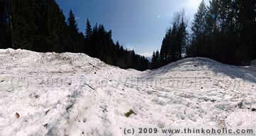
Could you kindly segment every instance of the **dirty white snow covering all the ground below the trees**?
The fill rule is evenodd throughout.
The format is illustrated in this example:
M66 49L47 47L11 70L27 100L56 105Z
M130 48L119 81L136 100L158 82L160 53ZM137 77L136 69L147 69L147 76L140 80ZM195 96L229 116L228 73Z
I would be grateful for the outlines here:
M0 135L118 136L124 125L223 120L256 125L256 72L203 57L139 72L80 53L6 49L0 73ZM130 109L136 115L127 118Z

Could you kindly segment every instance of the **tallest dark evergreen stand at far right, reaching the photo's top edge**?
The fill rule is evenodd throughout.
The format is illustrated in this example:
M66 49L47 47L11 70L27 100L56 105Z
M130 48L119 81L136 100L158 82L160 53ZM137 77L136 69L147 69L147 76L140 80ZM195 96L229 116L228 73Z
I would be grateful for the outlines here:
M205 13L203 5L193 21L193 38L187 55L210 57L228 64L249 64L255 59L256 1L211 0L206 17L200 16ZM201 25L204 20L206 24Z

